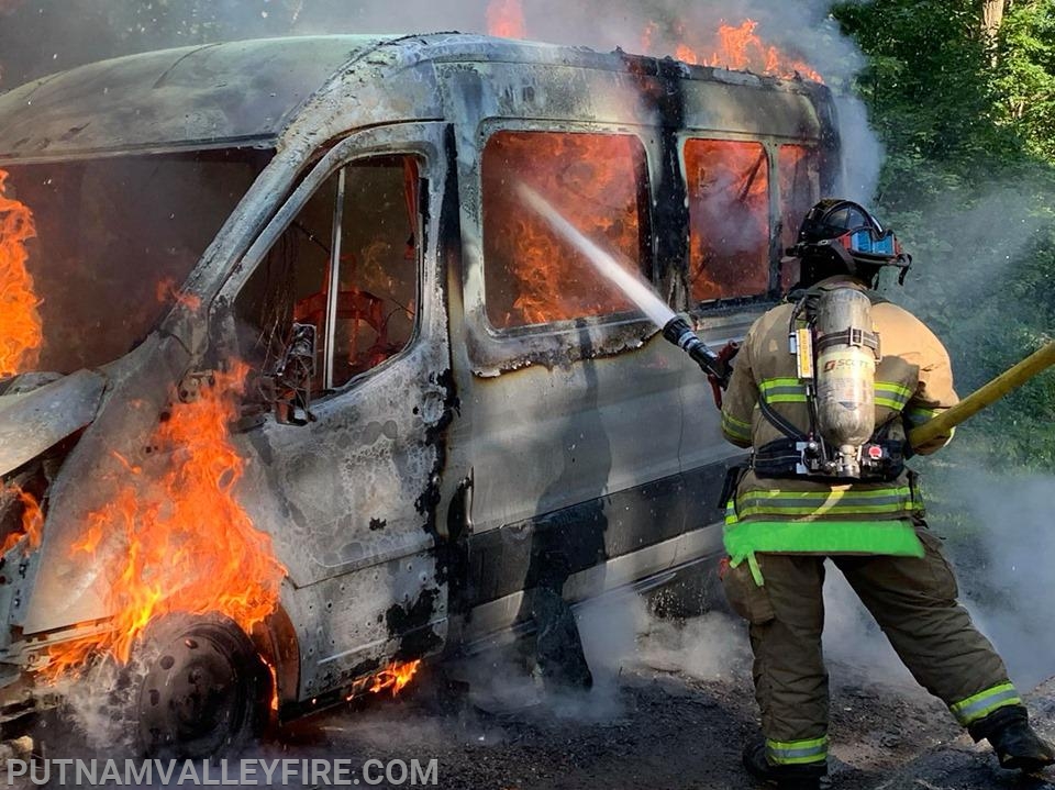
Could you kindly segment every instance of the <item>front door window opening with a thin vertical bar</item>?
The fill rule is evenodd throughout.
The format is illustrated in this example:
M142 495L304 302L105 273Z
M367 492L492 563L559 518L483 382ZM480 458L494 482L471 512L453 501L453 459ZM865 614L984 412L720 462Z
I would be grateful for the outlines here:
M346 165L311 196L235 300L251 364L273 369L293 323L314 327L316 392L407 347L418 313L418 185L415 158L385 156Z

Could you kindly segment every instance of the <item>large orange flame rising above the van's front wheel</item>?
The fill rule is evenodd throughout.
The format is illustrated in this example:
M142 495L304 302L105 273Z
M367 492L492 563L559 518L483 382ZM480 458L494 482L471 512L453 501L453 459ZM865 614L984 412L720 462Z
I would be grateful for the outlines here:
M96 561L104 537L124 538L124 550L102 560L116 614L104 633L52 647L45 677L91 653L127 661L136 637L165 614L219 613L249 633L275 611L286 569L234 497L243 461L227 425L247 371L235 363L214 374L198 400L173 405L149 443L156 455L169 454L158 479L121 459L127 482L88 516L73 547L77 561Z

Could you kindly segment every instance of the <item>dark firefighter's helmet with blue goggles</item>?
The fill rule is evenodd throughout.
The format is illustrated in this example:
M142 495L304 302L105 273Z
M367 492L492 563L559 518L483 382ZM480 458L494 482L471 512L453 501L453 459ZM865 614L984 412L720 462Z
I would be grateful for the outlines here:
M859 203L826 198L806 214L799 227L798 243L789 251L803 263L828 258L845 266L851 275L871 281L880 266L901 269L898 281L912 265L912 256L901 249L893 231Z

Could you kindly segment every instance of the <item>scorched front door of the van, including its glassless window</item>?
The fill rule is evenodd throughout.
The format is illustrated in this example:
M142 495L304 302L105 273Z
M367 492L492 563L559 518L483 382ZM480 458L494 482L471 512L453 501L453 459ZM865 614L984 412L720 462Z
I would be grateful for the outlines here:
M225 286L256 374L245 496L288 570L301 699L440 649L435 510L454 399L436 224L442 126L344 140Z

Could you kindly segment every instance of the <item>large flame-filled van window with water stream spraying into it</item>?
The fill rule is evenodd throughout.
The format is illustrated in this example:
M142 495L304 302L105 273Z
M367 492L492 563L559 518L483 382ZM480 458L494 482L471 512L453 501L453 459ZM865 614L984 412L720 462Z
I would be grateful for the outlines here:
M626 134L513 132L484 148L487 318L507 330L636 310L581 254L523 205L518 183L647 279L652 272L644 146Z

